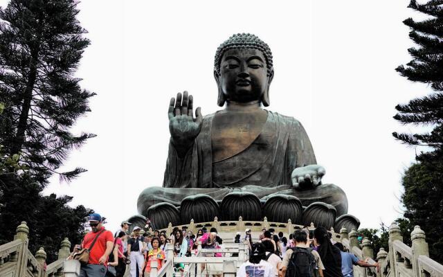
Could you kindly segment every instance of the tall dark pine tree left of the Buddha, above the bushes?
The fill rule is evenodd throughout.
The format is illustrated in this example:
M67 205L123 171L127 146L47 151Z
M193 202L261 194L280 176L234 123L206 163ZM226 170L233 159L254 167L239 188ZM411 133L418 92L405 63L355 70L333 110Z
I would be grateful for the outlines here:
M84 172L57 169L71 149L95 136L69 131L95 94L74 77L89 45L76 6L74 0L11 0L0 9L0 140L42 186L54 173L69 181Z

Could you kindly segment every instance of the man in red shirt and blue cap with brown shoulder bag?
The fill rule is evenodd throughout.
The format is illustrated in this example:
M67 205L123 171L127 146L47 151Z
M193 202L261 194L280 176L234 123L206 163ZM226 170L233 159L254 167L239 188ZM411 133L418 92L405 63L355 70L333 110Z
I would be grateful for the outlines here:
M89 215L89 226L92 232L84 235L82 248L91 248L87 265L80 267L80 277L105 277L108 256L114 248L114 235L102 226L102 217L98 213Z

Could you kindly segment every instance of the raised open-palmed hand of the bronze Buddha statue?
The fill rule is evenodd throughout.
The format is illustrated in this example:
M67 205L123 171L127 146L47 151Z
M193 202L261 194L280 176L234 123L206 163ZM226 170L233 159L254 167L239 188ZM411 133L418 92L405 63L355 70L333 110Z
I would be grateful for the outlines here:
M192 116L193 99L188 91L183 92L183 101L181 93L177 93L177 99L171 98L168 117L169 131L171 133L172 143L178 152L186 152L192 145L195 138L200 133L203 116L201 108L195 111L195 118Z

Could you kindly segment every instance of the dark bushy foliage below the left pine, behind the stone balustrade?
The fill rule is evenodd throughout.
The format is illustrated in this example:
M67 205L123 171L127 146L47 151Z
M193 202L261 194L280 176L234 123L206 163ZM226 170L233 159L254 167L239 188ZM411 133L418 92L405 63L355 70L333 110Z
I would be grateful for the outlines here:
M57 259L64 238L69 238L72 247L80 243L87 216L93 212L81 205L71 208L68 204L72 197L42 195L42 187L27 174L1 174L0 192L0 203L4 205L0 209L0 244L10 242L20 222L26 221L29 249L35 253L44 247L47 263Z

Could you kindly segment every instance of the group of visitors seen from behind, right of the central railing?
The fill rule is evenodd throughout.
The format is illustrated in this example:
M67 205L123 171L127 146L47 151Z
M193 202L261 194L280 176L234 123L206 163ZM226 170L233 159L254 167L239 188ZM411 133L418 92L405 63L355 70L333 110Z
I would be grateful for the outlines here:
M249 260L239 267L238 277L353 277L353 265L378 267L377 262L359 260L332 240L325 228L298 229L289 240L273 229L263 229L259 242L253 243L251 230L244 240L251 249Z

